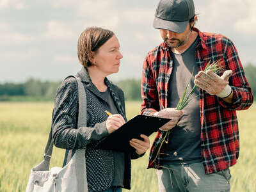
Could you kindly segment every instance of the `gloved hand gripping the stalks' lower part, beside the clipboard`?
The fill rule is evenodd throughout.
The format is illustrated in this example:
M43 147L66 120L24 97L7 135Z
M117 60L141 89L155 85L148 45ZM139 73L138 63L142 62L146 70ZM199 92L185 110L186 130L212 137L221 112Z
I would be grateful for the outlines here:
M170 129L172 129L173 127L175 127L175 125L177 124L180 116L182 116L183 112L181 110L176 110L175 108L166 108L166 109L162 109L161 111L154 113L154 116L160 116L163 118L171 118L172 120L170 120L169 122L167 122L166 124L164 124L162 127L160 127L159 129L161 131L168 131Z

